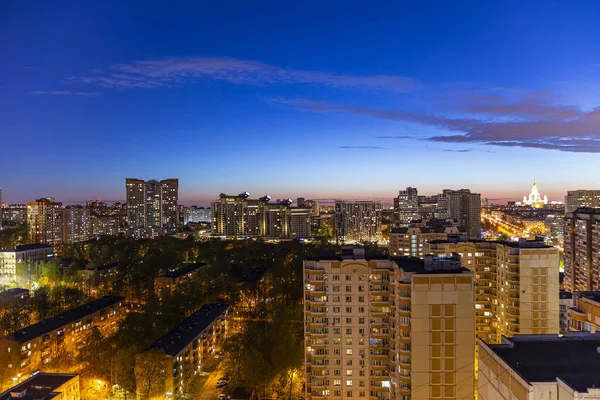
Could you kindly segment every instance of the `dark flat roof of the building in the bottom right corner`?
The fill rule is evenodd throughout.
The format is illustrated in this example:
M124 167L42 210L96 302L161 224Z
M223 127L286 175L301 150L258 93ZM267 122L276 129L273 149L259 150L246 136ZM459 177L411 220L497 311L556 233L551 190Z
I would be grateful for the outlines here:
M521 335L487 345L528 382L560 378L578 392L600 385L600 335Z

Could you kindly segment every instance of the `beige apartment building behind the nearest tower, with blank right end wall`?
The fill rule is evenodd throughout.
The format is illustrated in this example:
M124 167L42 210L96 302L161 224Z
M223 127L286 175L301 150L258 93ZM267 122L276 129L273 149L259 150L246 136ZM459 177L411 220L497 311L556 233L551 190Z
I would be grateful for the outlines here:
M559 333L558 249L543 241L433 241L426 252L461 256L475 273L477 337L499 343L502 335Z

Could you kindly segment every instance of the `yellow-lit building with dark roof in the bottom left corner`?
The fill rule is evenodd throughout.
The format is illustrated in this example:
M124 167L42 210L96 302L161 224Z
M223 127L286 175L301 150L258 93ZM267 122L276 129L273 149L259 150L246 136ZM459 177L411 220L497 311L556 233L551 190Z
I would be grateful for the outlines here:
M79 375L38 373L0 393L0 400L79 400Z

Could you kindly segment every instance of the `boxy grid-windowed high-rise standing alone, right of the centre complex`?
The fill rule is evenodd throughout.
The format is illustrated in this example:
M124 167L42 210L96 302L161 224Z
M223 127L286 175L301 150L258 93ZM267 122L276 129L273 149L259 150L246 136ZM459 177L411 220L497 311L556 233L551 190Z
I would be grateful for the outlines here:
M379 242L381 202L336 200L335 234L339 242Z

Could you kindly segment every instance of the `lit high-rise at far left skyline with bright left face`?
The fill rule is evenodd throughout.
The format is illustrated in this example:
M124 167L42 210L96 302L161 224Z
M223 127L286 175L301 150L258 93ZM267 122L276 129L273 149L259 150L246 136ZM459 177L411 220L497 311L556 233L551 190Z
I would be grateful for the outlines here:
M54 198L42 198L27 203L27 231L30 243L62 246L62 203Z

